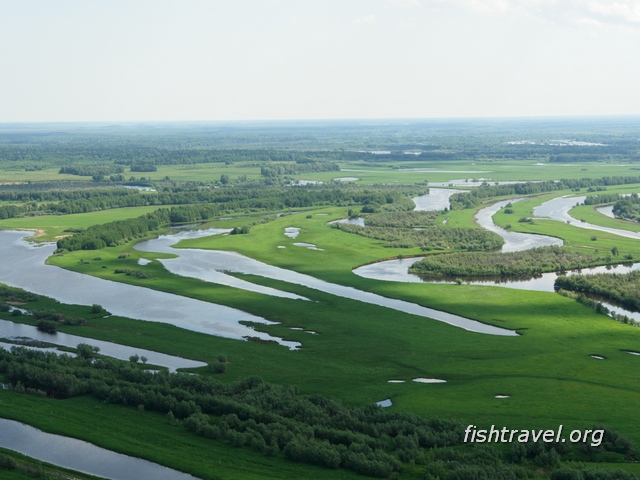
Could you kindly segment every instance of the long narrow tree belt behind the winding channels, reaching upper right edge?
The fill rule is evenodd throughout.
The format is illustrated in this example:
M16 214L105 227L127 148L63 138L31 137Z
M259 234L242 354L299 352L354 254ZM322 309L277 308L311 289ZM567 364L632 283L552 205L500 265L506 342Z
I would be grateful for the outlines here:
M451 196L451 209L463 210L476 208L485 198L506 195L532 195L557 190L578 190L590 187L607 187L611 185L629 185L640 183L640 176L616 176L602 178L560 179L543 182L526 182L509 185L483 185L468 193L456 193Z

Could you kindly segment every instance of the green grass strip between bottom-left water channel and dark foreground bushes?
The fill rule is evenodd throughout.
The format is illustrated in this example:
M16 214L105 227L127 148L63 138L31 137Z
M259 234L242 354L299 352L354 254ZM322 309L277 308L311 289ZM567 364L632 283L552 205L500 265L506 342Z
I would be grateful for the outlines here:
M88 397L54 400L7 391L0 393L0 405L5 418L144 458L204 480L326 478L325 469L212 442L171 424L162 414L140 412L135 407L104 404ZM332 473L338 479L362 478L346 471Z

